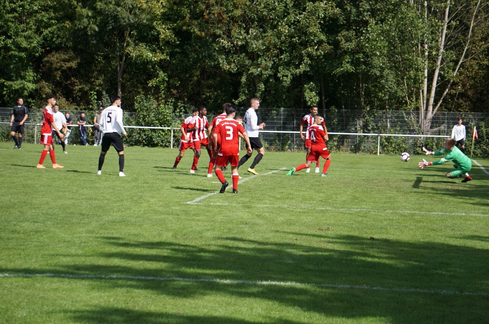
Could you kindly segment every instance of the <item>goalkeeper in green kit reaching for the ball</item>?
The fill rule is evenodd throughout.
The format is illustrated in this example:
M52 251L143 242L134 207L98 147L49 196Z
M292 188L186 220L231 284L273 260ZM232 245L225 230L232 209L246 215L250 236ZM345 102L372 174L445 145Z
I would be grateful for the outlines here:
M447 178L460 178L462 176L466 176L462 182L472 181L472 178L468 175L468 171L472 168L472 161L470 161L467 156L459 150L458 147L455 146L456 141L454 139L446 139L445 148L441 151L431 152L423 147L423 151L426 152L426 155L445 155L445 158L442 158L440 161L436 162L427 162L423 159L423 162L420 162L420 168L424 169L428 165L439 165L445 162L453 161L455 164L455 170L452 172L448 172L445 174Z

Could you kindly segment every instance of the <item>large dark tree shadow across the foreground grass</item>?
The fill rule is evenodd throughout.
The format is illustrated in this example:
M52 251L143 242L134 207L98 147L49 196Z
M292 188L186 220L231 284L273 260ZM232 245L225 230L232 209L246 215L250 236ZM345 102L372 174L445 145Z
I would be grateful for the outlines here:
M263 301L280 305L286 311L296 309L323 319L341 321L384 319L401 324L488 321L489 298L484 294L489 293L489 259L487 249L472 247L474 242L464 246L383 238L371 240L368 235L332 235L331 232L317 242L316 234L311 233L284 233L280 242L223 237L212 245L185 243L187 241L177 238L168 241L101 238L98 252L73 255L73 263L63 257L52 268L0 268L0 272L133 276L106 278L103 283L93 278L70 280L95 280L97 285L102 284L104 289L112 291L121 288L150 290L166 296L164 298L178 300L215 296L219 301L229 297L227 307L230 311L238 309L233 308L232 303L246 300L249 303ZM465 239L480 242L488 238ZM83 262L80 258L87 260ZM188 281L183 284L178 280L147 280L147 277L245 282ZM264 280L317 286L254 283ZM452 291L474 292L476 295ZM480 292L482 294L477 295ZM102 305L89 310L80 307L73 314L78 322L94 324L190 323L199 320L233 323L232 319L226 321L226 317L139 313L129 307ZM158 315L161 321L155 322ZM273 320L284 323L277 315L267 316L272 323ZM234 323L246 322L238 320Z

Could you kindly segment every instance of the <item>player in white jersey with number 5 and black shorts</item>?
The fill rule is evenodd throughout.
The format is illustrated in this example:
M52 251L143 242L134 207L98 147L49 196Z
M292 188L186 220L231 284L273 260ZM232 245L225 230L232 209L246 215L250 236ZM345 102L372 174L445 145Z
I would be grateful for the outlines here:
M104 109L102 116L100 116L100 128L104 132L102 138L102 152L98 159L98 171L97 174L102 174L102 165L104 165L105 155L112 146L119 154L119 176L125 177L124 174L124 144L120 134L127 136L127 132L122 124L122 109L121 97L113 96L111 98L111 105Z

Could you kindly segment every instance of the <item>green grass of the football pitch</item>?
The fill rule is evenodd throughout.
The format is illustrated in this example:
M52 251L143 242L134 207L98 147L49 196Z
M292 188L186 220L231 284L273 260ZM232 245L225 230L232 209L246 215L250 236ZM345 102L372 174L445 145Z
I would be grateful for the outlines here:
M120 178L113 149L97 176L98 147L57 146L65 169L41 170L41 145L11 146L0 143L0 273L365 289L0 277L2 324L489 322L489 176L475 165L464 184L445 178L451 164L419 169L422 157L333 154L327 178L287 177L304 154L267 152L257 172L288 169L188 204L221 187L188 174L190 152L171 170L176 149L128 147Z

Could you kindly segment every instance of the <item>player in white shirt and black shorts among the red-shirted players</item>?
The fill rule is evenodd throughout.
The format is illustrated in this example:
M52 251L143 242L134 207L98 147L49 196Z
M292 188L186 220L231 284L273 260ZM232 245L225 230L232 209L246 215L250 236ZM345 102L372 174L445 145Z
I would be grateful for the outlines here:
M251 152L248 150L248 153L241 158L240 163L238 165L238 169L240 166L242 166L246 161L248 161L249 158L251 158L251 155L253 154L253 149L255 149L258 154L255 157L255 160L253 160L253 163L251 163L250 167L248 168L249 173L253 173L255 175L258 175L255 171L255 166L260 162L265 154L265 150L263 149L263 144L260 141L260 135L259 135L259 130L263 130L265 127L265 123L262 122L260 125L258 125L258 116L256 115L255 110L260 107L260 101L257 98L251 99L251 107L246 111L246 114L244 114L244 130L248 134L249 137L249 142L251 144ZM246 144L246 149L248 148L248 144Z

